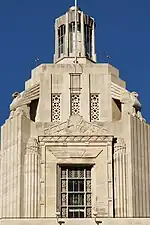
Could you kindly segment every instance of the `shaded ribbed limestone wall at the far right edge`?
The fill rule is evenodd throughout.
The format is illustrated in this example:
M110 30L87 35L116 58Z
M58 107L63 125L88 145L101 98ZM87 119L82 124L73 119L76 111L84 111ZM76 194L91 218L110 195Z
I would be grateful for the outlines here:
M131 116L133 216L150 216L150 126Z

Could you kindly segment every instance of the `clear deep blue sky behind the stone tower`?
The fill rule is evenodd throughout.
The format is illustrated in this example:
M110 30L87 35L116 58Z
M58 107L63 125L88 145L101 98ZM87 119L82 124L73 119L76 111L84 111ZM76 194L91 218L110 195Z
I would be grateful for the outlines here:
M120 70L127 88L137 91L142 113L150 121L150 1L78 0L80 8L96 20L96 53L105 52ZM73 0L0 0L0 125L9 115L12 93L22 91L35 58L51 63L54 21Z

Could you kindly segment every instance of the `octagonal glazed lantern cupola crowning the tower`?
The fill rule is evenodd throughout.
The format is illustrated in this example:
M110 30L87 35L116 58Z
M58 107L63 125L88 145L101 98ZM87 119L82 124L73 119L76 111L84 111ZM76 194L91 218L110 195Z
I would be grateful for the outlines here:
M71 64L74 58L81 64L96 62L95 22L78 6L71 6L55 21L54 63Z

